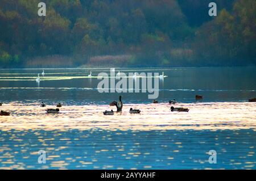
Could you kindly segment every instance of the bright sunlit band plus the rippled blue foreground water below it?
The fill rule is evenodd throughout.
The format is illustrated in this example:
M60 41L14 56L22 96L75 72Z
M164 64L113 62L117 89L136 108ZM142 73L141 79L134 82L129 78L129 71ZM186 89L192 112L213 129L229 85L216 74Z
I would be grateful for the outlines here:
M0 169L255 169L255 103L126 104L46 108L5 104L0 116ZM48 106L53 107L53 106ZM130 107L142 113L130 115ZM217 151L217 164L207 152ZM47 153L39 164L38 151Z

